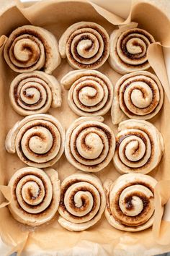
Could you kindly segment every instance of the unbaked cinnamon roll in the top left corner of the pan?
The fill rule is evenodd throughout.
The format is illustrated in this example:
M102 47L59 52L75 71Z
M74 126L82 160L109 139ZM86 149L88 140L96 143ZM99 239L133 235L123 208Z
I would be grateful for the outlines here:
M61 63L55 36L32 25L18 27L9 35L4 46L4 59L19 73L42 69L51 74Z

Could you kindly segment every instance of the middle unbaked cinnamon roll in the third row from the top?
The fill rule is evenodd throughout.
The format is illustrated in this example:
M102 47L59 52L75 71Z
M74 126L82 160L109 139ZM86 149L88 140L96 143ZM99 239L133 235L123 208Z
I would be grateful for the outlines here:
M66 132L66 158L81 171L102 170L115 153L115 135L102 121L102 116L80 117Z

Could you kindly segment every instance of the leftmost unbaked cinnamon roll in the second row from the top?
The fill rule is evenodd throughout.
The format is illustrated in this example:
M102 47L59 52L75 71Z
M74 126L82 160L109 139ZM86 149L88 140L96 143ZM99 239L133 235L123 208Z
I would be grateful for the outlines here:
M45 72L19 74L10 85L9 98L18 114L28 116L45 113L61 106L61 86Z

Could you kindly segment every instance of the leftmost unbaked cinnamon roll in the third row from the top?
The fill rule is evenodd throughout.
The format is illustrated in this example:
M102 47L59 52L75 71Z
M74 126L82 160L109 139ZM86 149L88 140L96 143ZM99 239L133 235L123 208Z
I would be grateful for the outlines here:
M64 151L65 131L55 117L35 114L18 121L6 136L6 150L28 166L53 166Z

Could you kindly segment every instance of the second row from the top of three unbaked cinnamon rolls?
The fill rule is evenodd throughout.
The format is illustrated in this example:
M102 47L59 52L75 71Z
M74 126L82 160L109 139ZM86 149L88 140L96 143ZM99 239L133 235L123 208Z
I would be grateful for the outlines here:
M111 109L113 124L151 119L164 103L161 82L151 72L125 74L114 87L102 72L86 69L68 72L60 83L42 71L19 74L12 80L9 99L22 116L41 114L61 106L61 88L68 90L68 105L76 115L103 116Z

